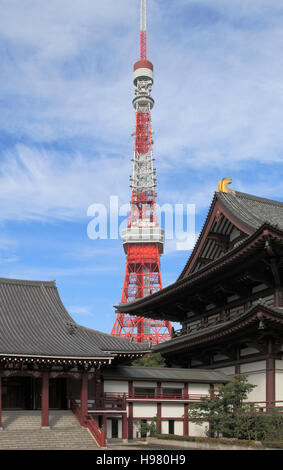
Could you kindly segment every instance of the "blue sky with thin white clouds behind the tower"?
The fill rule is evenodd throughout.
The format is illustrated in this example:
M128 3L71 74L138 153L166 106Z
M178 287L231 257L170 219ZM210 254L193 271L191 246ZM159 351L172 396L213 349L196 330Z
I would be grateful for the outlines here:
M148 0L158 202L218 181L282 200L283 5ZM0 0L1 277L56 280L80 324L110 332L121 240L91 240L87 209L130 198L138 0ZM163 285L189 252L168 242Z

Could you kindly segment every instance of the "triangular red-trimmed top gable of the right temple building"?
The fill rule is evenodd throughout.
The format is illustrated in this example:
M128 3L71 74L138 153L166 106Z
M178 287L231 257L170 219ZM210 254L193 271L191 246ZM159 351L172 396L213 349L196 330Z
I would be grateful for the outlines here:
M223 256L264 224L283 230L283 203L239 191L215 193L196 245L178 279Z

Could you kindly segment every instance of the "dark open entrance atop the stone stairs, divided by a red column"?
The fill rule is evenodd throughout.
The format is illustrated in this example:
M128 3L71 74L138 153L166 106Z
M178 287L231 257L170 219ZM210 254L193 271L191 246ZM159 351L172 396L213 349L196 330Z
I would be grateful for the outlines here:
M2 408L10 410L41 409L41 379L34 377L3 377ZM65 378L50 379L49 408L67 409Z

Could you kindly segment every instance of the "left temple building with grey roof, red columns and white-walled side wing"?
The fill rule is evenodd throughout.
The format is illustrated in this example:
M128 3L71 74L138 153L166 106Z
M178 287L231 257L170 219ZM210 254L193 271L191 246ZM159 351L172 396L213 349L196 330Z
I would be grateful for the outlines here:
M184 417L188 403L230 379L215 371L130 366L149 351L148 343L78 325L55 282L0 279L1 433L9 410L41 410L41 428L50 427L50 410L66 410L102 447L107 438L137 437L137 423L156 416L160 432L202 434Z

